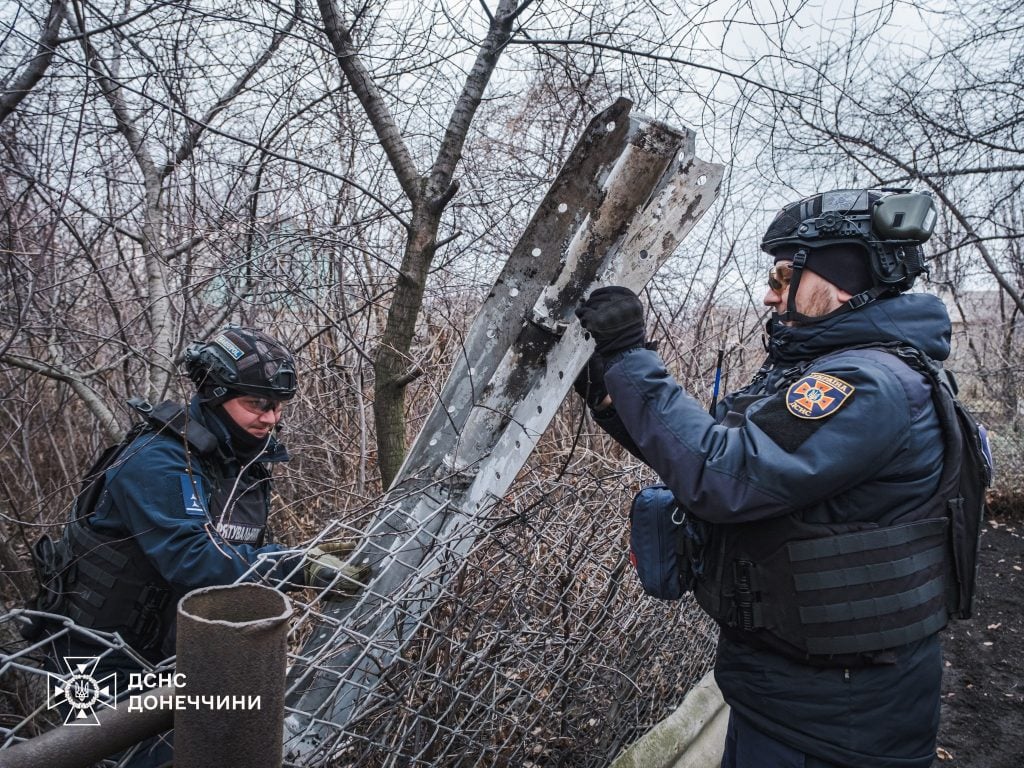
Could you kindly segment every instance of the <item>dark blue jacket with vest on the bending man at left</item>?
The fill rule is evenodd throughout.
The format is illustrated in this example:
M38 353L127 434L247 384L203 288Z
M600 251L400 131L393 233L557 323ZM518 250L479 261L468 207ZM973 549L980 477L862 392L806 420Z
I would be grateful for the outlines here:
M265 543L263 462L287 460L284 447L271 439L258 461L243 463L224 424L198 400L186 418L180 413L117 454L98 498L84 502L92 508L76 503L81 517L63 532L70 567L55 610L120 633L151 660L174 652L177 603L187 592L247 575L303 583L301 555L273 557L284 548Z

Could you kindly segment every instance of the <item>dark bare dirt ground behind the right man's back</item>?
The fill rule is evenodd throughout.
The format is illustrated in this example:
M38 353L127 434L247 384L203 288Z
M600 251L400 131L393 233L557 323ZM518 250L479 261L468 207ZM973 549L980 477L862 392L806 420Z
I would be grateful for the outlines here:
M944 631L933 768L1024 766L1024 518L988 521L974 617Z

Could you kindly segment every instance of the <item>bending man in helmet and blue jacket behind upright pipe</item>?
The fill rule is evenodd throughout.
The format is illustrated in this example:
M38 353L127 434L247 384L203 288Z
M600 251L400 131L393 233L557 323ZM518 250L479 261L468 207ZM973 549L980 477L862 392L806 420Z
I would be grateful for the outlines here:
M48 608L119 633L152 663L174 654L176 606L194 589L262 579L352 594L367 575L338 557L350 544L279 556L287 548L271 541L269 468L289 459L275 434L297 387L291 352L262 331L228 327L190 345L185 368L197 387L189 403L142 407L146 428L76 500ZM77 633L53 646L57 668L61 656L105 650ZM94 674L117 673L122 692L131 671L130 659L106 654ZM168 758L155 750L130 765Z

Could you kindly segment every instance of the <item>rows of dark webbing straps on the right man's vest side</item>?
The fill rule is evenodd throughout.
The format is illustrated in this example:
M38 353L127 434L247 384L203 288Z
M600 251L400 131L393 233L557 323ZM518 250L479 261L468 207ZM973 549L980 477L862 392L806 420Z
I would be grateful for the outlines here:
M782 570L792 578L768 594L771 607L791 607L761 606L788 621L772 627L766 616L764 626L823 655L881 650L934 634L947 620L947 525L936 518L788 543Z

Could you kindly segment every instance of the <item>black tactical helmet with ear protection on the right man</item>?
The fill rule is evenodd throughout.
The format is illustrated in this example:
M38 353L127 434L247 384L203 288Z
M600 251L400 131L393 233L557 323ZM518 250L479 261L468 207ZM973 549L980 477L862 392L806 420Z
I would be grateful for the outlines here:
M761 250L782 246L813 253L825 246L862 249L879 288L906 291L926 271L921 244L932 236L931 195L908 189L834 189L791 203L761 240Z

